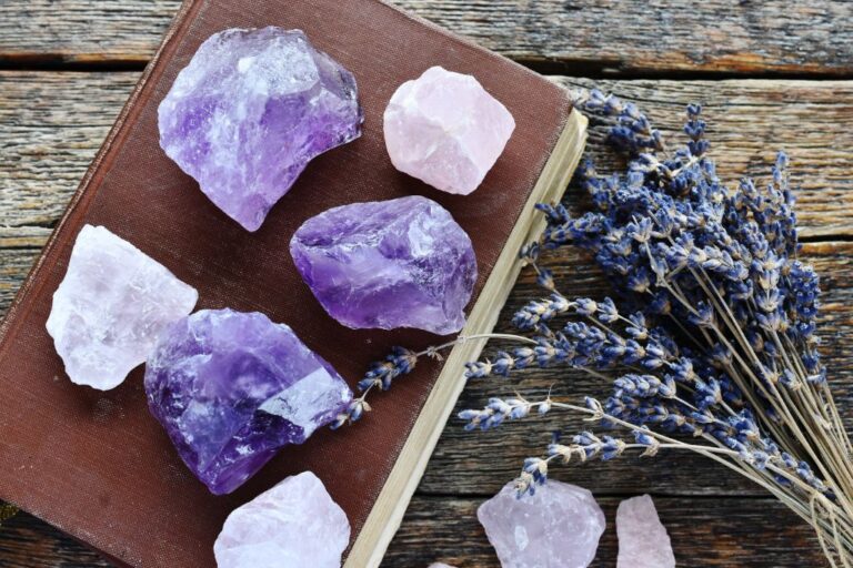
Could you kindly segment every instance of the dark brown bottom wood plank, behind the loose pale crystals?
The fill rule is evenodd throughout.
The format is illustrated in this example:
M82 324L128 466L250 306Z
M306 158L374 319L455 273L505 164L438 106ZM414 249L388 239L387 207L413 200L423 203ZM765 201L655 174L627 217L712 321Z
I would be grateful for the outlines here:
M444 561L459 568L498 568L494 550L476 520L483 499L415 497L391 542L383 568L425 568ZM615 566L615 508L601 498L608 518L592 568ZM812 534L770 499L655 498L679 566L703 568L801 568L823 566ZM759 538L760 536L760 538ZM109 568L96 552L40 520L20 514L0 528L4 568Z

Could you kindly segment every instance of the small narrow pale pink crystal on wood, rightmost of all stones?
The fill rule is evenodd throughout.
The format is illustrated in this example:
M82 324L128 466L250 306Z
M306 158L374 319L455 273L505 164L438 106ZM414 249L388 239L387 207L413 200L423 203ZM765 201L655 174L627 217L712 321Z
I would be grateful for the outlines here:
M616 568L675 568L670 536L648 495L619 504L616 532Z

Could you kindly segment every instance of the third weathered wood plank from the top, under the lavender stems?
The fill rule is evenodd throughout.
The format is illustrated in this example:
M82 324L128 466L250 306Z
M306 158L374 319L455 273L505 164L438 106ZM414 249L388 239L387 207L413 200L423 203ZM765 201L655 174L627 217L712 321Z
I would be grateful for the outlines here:
M8 307L37 254L36 248L0 248L0 313ZM842 414L853 425L853 337L845 333L853 320L853 243L806 244L803 257L812 261L824 276L823 353ZM559 287L570 296L600 297L601 291L606 290L606 283L599 277L589 258L578 254L551 258L548 266L554 271ZM502 313L499 331L511 331L509 317L512 312L539 294L531 278L524 276ZM602 396L610 392L610 385L582 373L530 369L515 379L471 382L456 412L480 407L491 395L509 396L518 389L528 396L542 397L552 387L555 396L578 399L588 394ZM385 405L393 404L393 390L373 397L371 403L374 410L381 413ZM482 496L496 493L518 475L524 457L541 454L553 430L571 433L584 428L579 417L556 413L506 424L488 433L468 433L461 426L454 418L446 426L419 487L421 494ZM638 490L672 496L764 495L735 474L690 454L662 453L654 459L624 458L615 464L554 468L553 475L605 495Z

